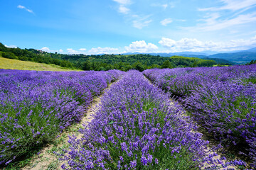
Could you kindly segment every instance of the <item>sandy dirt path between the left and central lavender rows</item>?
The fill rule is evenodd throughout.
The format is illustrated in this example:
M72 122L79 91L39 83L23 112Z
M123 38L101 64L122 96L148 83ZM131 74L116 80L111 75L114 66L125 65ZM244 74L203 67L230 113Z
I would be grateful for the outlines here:
M117 82L117 81L115 81ZM115 83L114 82L114 83ZM65 132L63 132L59 137L53 142L53 144L50 144L46 146L44 149L41 150L41 152L33 157L33 161L23 168L23 170L51 170L51 169L61 169L61 165L65 162L62 162L58 159L58 156L54 154L54 152L58 153L64 153L63 149L67 149L70 147L68 143L68 136L75 135L78 137L78 139L82 138L82 134L78 132L80 128L84 128L83 125L87 125L88 122L92 121L92 115L99 109L101 97L106 93L108 89L110 89L110 86L112 86L111 83L107 89L105 89L101 96L98 96L97 98L94 98L92 101L92 104L89 109L87 109L85 116L82 118L80 123L75 124Z

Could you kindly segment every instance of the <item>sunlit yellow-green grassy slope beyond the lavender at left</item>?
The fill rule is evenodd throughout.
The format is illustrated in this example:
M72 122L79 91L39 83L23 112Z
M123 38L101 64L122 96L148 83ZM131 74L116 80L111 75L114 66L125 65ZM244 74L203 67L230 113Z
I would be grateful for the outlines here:
M38 71L78 71L72 69L65 69L54 64L44 64L38 62L25 62L21 60L12 60L1 57L0 55L0 69L22 69L22 70L38 70Z

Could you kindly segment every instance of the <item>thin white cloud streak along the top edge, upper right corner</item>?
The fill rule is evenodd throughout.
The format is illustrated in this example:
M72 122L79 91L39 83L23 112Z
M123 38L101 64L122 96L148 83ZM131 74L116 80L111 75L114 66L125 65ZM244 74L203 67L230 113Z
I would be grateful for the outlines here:
M198 8L198 11L220 11L220 10L231 10L237 11L242 8L252 8L256 5L255 0L220 0L224 6L210 7L210 8Z

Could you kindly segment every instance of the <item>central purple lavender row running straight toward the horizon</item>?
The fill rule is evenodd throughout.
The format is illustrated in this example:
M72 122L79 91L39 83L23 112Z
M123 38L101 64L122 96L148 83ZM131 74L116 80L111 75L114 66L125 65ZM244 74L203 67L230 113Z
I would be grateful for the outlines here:
M196 125L142 73L129 71L102 97L93 120L70 137L63 169L218 169ZM235 164L243 164L235 162ZM215 168L214 168L215 167Z

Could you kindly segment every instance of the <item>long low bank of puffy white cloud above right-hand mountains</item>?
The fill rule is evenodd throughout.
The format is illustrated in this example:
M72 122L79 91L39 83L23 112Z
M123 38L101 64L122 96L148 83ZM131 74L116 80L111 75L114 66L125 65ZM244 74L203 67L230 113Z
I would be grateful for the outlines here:
M169 52L202 52L202 51L233 51L245 50L255 47L256 36L248 40L230 40L229 42L202 42L196 38L182 38L181 40L172 40L171 38L161 38L159 44L167 48Z

